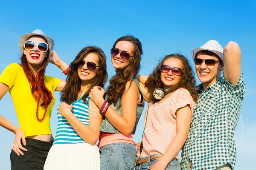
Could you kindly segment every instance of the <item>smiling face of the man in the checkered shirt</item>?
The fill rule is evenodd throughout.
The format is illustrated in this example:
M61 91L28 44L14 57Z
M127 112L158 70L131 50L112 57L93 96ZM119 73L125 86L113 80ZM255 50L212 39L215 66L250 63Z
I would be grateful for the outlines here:
M197 54L198 59L214 59L216 61L220 60L218 57L209 56L204 54L204 52L199 51ZM199 80L203 83L204 89L209 85L216 82L221 77L221 71L223 67L220 62L217 62L214 66L207 66L203 61L201 65L195 65L196 74Z

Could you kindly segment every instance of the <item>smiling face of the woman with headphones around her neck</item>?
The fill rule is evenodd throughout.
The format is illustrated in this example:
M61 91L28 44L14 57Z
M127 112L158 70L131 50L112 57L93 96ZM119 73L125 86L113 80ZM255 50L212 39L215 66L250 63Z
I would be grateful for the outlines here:
M170 68L177 67L183 69L181 60L173 57L164 61L163 65L168 65ZM161 72L160 78L163 82L164 89L170 88L172 85L176 85L180 82L180 76L172 74L172 70L169 70L167 73Z

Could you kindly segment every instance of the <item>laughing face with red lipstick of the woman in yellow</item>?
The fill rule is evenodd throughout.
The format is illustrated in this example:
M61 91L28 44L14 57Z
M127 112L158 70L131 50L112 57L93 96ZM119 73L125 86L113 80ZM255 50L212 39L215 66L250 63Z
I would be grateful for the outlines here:
M47 43L44 40L44 38L42 38L41 36L33 36L33 37L30 37L28 40L34 41L35 44L38 44L39 42ZM26 59L30 66L41 67L41 64L44 62L44 59L46 57L47 51L41 52L38 50L38 47L35 46L35 48L33 48L33 50L24 49L24 54L26 55Z

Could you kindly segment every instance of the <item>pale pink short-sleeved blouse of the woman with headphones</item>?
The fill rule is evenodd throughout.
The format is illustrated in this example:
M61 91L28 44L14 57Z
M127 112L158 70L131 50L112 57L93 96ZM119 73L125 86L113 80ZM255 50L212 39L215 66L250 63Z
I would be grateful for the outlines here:
M186 105L190 105L193 111L195 102L189 91L179 88L171 94L164 102L158 104L149 103L148 120L143 135L143 151L137 156L144 158L153 154L164 154L172 139L176 136L176 111ZM145 113L147 113L147 110ZM179 159L179 156L175 156Z

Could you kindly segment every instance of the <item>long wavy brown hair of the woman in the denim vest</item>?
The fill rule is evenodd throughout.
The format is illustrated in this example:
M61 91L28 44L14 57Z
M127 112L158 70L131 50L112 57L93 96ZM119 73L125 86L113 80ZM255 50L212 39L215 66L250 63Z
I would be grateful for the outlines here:
M133 57L129 65L125 67L123 71L120 71L120 73L116 74L110 79L110 83L106 91L106 95L108 96L107 101L110 104L111 103L116 104L116 102L118 101L118 98L122 97L122 95L125 93L126 83L129 80L131 81L132 78L139 73L141 55L143 54L142 44L140 40L135 38L134 36L127 35L124 37L120 37L114 43L113 48L115 48L116 43L119 41L129 41L133 43L134 45L134 49L132 51Z

